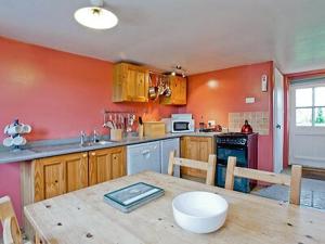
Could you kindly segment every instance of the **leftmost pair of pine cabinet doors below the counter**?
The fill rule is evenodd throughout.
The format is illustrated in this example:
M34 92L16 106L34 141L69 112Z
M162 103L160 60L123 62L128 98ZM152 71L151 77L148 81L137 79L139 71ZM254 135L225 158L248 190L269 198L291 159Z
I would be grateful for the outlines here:
M32 162L35 202L88 187L88 154L75 153Z

